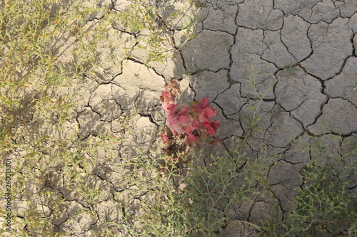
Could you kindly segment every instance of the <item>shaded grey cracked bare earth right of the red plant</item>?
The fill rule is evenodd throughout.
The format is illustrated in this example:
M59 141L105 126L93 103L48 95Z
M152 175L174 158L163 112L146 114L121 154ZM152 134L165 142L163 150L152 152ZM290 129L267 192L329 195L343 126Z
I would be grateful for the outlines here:
M245 134L248 102L256 100L247 80L251 65L258 71L260 95L279 78L261 106L258 127L263 132L253 132L247 152L256 155L266 146L268 154L278 155L268 183L281 211L291 211L293 189L302 184L298 172L309 160L294 152L301 144L292 144L293 139L326 134L329 142L339 134L356 139L357 1L206 2L198 39L181 51L193 75L194 98L207 95L213 101L222 122L220 135L228 142L232 135ZM236 206L232 219L268 219L271 201ZM243 230L241 222L232 221L223 236L248 236Z

